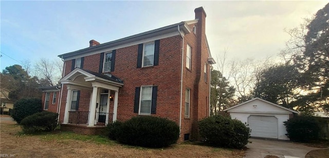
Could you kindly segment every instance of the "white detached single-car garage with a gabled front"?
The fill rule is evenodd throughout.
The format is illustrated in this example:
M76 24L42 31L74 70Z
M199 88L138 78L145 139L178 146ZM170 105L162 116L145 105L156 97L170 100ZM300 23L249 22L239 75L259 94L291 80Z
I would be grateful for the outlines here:
M235 105L224 111L230 113L234 119L247 123L253 137L264 137L270 139L289 140L283 122L293 117L297 112L280 105L253 98L247 102Z

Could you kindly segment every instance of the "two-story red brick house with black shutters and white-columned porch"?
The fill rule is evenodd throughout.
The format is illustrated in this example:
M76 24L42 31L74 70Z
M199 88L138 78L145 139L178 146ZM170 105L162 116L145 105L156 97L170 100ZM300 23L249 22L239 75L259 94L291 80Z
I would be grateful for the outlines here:
M202 7L194 12L191 21L104 44L91 40L88 48L59 55L64 61L59 104L47 108L60 114L62 130L98 134L107 123L153 115L176 122L180 142L197 140L197 121L210 114L215 61L206 13ZM45 91L43 100L46 95L54 94Z

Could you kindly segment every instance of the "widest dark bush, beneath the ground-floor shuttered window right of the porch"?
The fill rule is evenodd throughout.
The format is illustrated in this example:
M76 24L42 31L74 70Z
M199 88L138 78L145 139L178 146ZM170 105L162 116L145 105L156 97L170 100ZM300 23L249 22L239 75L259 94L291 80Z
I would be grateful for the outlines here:
M160 148L176 143L179 138L178 125L166 118L137 116L114 126L118 129L109 136L128 145Z

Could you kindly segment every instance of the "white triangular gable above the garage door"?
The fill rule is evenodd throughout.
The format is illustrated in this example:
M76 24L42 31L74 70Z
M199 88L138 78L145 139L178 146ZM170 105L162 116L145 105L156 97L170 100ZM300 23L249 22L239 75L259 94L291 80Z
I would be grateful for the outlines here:
M261 98L253 98L247 102L235 105L224 111L227 112L242 112L242 113L277 113L277 114L292 114L297 113L294 110L282 107L280 105L270 103Z

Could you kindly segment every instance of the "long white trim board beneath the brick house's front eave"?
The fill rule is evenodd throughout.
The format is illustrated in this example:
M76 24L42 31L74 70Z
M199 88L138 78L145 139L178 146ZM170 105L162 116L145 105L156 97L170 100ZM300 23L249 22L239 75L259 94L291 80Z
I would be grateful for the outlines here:
M129 44L123 44L123 45L119 45L119 46L115 46L115 47L111 47L111 48L106 48L106 49L102 49L102 50L98 50L98 51L90 50L92 52L84 53L84 54L80 54L80 55L75 55L75 56L72 56L72 57L68 57L64 61L69 61L69 60L75 59L77 57L84 57L84 56L99 54L99 53L103 53L103 52L113 51L113 50L121 49L121 48L125 48L125 47L135 46L135 45L139 45L141 43L149 43L149 42L152 42L152 41L156 41L158 39L168 38L168 37L172 37L172 36L176 36L176 35L179 35L179 32L172 32L172 33L168 33L168 34L165 34L165 35L160 35L160 36L156 36L156 37L152 37L152 38L148 38L148 39L142 39L140 41L132 42L132 43L129 43Z

